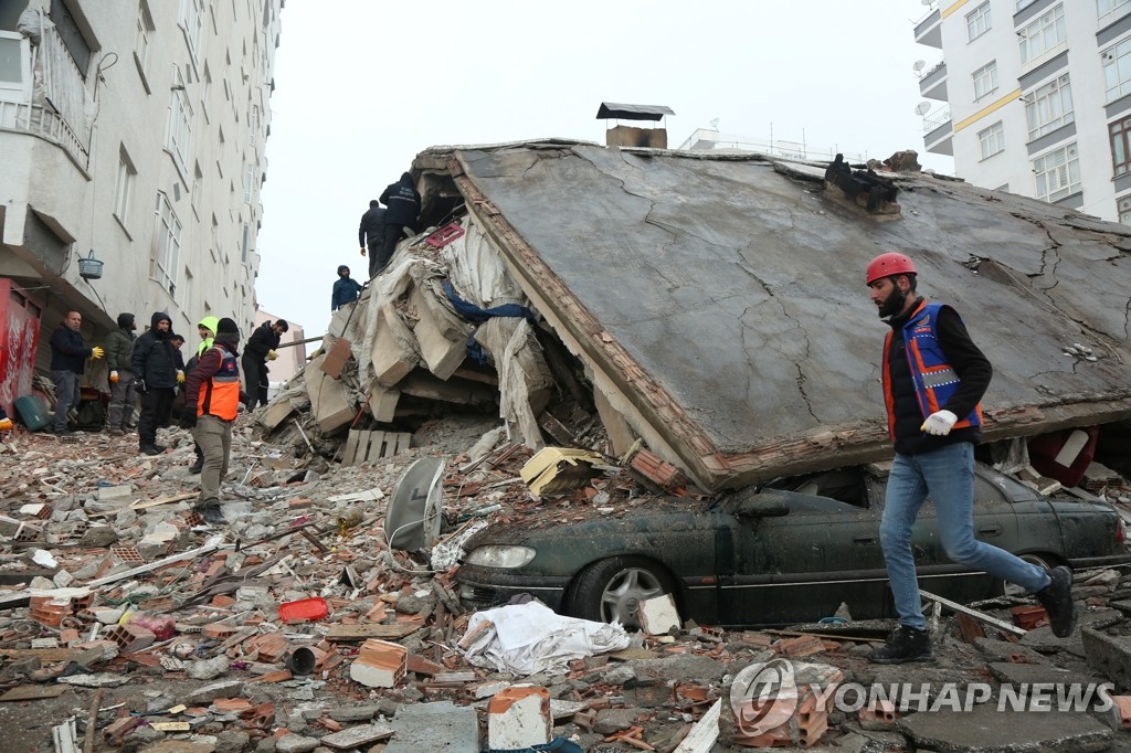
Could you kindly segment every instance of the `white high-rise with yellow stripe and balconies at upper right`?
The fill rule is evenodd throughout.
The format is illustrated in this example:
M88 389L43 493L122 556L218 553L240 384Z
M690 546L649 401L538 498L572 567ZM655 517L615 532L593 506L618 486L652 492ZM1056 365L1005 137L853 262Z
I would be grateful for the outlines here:
M927 152L955 174L1131 224L1131 0L941 0L915 40ZM930 107L930 109L929 109Z

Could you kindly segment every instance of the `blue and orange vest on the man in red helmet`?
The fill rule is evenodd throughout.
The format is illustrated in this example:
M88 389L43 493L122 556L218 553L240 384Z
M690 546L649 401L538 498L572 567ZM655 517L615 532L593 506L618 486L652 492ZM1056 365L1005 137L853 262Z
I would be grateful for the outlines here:
M904 355L912 370L915 399L918 400L923 418L942 410L947 400L958 390L962 380L953 366L947 363L938 339L939 311L942 303L922 303L904 324ZM888 433L896 440L896 398L891 391L891 363L888 360L891 338L888 332L883 340L883 400L888 408ZM968 416L959 416L955 429L982 425L982 404L974 406Z

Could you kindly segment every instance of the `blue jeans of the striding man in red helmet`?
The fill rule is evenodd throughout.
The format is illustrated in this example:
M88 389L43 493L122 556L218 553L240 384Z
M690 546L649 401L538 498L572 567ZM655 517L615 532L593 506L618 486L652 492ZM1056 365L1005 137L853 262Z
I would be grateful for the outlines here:
M896 453L880 521L880 543L888 565L899 624L924 630L912 527L927 494L934 501L942 548L951 561L1028 591L1050 583L1045 570L974 538L974 445L956 442L920 455Z

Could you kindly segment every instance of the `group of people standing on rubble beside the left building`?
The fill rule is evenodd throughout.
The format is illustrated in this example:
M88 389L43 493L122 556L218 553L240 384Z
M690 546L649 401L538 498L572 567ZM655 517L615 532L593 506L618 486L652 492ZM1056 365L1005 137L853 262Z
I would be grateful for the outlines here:
M88 360L106 358L106 419L111 434L131 430L135 406L140 406L138 450L146 455L159 455L166 449L157 443L157 430L170 425L176 391L183 390L180 426L191 430L197 452L189 473L200 474L196 508L207 522L223 521L219 484L227 475L232 426L241 404L248 410L267 404L267 362L278 357L287 322L278 319L257 327L238 363L240 329L235 321L205 317L197 323L200 344L188 364L181 355L184 338L172 331L173 320L164 312L154 313L149 328L140 336L133 334L133 314L119 314L118 329L106 338L105 349L87 345L79 332L81 326L83 315L70 311L51 336L51 378L58 400L52 431L58 435L71 433L68 414L79 404L79 376ZM241 365L247 391L240 387Z

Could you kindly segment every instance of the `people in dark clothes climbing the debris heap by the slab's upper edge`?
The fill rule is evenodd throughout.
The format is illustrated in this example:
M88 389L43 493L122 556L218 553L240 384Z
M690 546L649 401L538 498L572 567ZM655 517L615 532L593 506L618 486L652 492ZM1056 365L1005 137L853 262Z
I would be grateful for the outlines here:
M357 242L361 256L369 254L370 279L388 266L392 252L397 250L397 242L406 234L416 232L420 213L421 194L413 184L411 173L402 174L396 183L389 183L379 199L369 202L369 209L361 216ZM330 311L353 303L361 291L362 285L349 276L349 266L340 265L330 296Z

